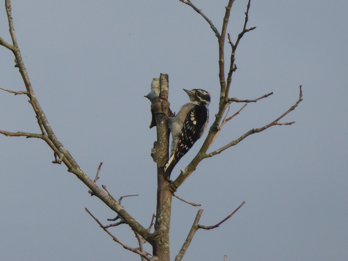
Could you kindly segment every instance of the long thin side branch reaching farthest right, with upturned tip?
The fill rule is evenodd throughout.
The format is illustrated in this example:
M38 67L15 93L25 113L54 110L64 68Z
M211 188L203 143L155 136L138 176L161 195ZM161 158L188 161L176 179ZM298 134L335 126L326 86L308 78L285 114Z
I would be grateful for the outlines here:
M293 124L294 122L286 122L286 123L279 123L278 121L280 119L282 119L286 114L288 114L289 112L293 111L297 105L302 101L302 85L300 85L300 96L299 96L299 99L298 101L290 107L290 109L288 109L286 112L284 112L281 116L279 116L277 119L275 119L274 121L272 121L271 123L261 127L261 128L257 128L257 129L251 129L249 130L247 133L243 134L242 136L240 136L237 140L234 140L234 141L231 141L230 143L228 143L227 145L225 145L224 147L220 148L220 149L217 149L211 153L206 153L204 158L208 158L208 157L212 157L216 154L219 154L221 153L222 151L228 149L229 147L232 147L234 145L237 145L240 141L244 140L247 136L251 135L251 134L254 134L254 133L259 133L259 132L262 132L263 130L271 127L271 126L274 126L274 125L291 125Z

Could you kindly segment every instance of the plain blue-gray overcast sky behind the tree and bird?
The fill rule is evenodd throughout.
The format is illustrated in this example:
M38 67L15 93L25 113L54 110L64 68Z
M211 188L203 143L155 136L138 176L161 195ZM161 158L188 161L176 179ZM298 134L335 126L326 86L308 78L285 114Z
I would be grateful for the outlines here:
M219 97L217 39L204 19L177 1L12 1L17 40L34 91L58 139L94 178L106 184L144 226L156 211L156 165L150 157L152 78L169 74L169 101L182 88ZM226 1L192 0L217 28ZM247 1L234 3L228 32L243 27ZM184 260L346 260L347 1L252 1L230 94L253 99L221 131L211 150L262 127L303 102L284 121L204 160L177 195L204 208ZM0 8L0 36L10 41ZM226 42L226 57L229 45ZM14 57L0 48L0 86L24 90ZM232 104L230 112L243 104ZM39 132L24 95L0 92L0 129ZM204 136L205 137L205 136ZM190 161L201 139L174 169ZM63 165L46 143L0 136L1 260L140 260L98 227L115 216ZM198 208L173 199L171 256L179 251ZM113 234L136 247L126 226ZM148 246L147 246L148 247ZM148 247L149 250L149 247Z

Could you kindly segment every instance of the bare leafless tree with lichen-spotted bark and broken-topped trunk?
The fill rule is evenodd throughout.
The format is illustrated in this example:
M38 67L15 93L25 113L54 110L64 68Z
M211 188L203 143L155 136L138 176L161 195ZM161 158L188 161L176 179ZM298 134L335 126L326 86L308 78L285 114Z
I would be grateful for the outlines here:
M247 103L257 102L258 100L262 98L266 98L269 95L272 95L273 93L271 92L271 93L262 95L259 98L254 98L250 100L240 100L238 98L229 97L232 74L237 70L237 66L235 64L236 49L243 35L256 28L256 27L250 27L250 28L247 27L250 0L248 1L246 12L245 12L245 22L244 22L243 29L237 35L237 38L235 41L231 40L230 35L227 34L227 31L226 31L228 21L229 21L229 16L230 16L230 10L232 8L232 4L234 3L234 0L228 1L228 5L226 6L226 12L223 17L222 28L220 31L217 30L213 22L210 19L208 19L207 16L200 9L194 6L191 1L180 0L180 2L183 2L186 5L192 7L198 14L200 14L201 17L203 17L208 22L213 33L217 37L218 48L219 48L218 61L219 61L219 83L220 83L219 108L218 108L218 112L215 114L215 119L211 127L209 128L208 135L202 147L198 151L197 155L191 160L191 162L189 163L187 167L181 170L180 174L177 175L174 181L168 181L167 179L165 179L165 176L164 176L164 166L168 161L168 144L169 144L169 129L167 126L167 120L168 120L167 117L173 116L173 113L169 108L170 104L168 102L168 88L169 88L168 75L160 74L159 78L153 79L151 84L151 92L145 97L149 98L149 100L151 101L152 122L150 124L150 127L156 126L156 129L157 129L157 141L155 141L153 149L152 149L152 158L157 164L157 187L158 187L157 188L157 207L156 207L157 210L156 210L156 215L154 214L152 216L150 226L144 227L139 222L137 222L121 206L122 198L128 197L128 196L137 196L137 195L127 195L127 196L120 197L118 200L116 200L111 195L111 193L109 192L108 188L105 185L102 185L102 188L96 185L96 181L98 180L98 175L99 175L102 163L100 163L97 169L97 174L95 176L95 179L94 180L90 179L90 177L84 171L82 171L78 163L74 160L74 158L69 153L68 149L63 147L62 143L55 136L53 129L51 128L48 122L48 119L46 118L45 113L42 111L41 106L34 94L27 70L22 60L22 55L18 48L15 29L13 25L13 17L11 15L11 2L10 0L5 0L5 8L7 12L9 32L11 35L12 43L10 44L0 37L0 44L3 47L9 49L14 54L15 62L16 62L15 66L18 67L19 73L21 73L26 90L13 91L13 90L5 89L2 87L0 88L6 92L14 93L15 95L25 94L29 97L29 102L32 105L32 108L35 112L35 117L37 119L40 132L27 133L27 132L8 132L6 130L0 130L0 133L6 136L25 136L27 138L38 138L38 139L44 140L54 152L54 160L52 161L52 163L54 164L63 163L68 168L69 172L76 175L83 183L86 184L86 186L89 188L89 193L92 196L96 196L100 198L104 202L104 204L106 204L110 209L112 209L114 212L117 213L116 218L110 219L109 221L118 221L118 222L104 226L87 208L86 208L86 211L95 219L95 221L99 224L99 226L112 237L112 239L115 242L119 243L120 245L122 245L122 247L126 248L127 250L138 254L141 257L141 260L162 260L162 261L169 260L169 224L170 224L170 218L171 218L172 197L175 196L179 198L180 200L183 200L184 202L191 204L193 206L200 206L198 204L191 203L175 195L176 190L195 171L200 161L202 161L205 158L212 157L216 154L219 154L222 151L238 144L247 136L254 133L262 132L263 130L271 126L293 124L294 122L279 122L279 120L281 120L286 114L294 110L296 106L302 101L302 91L300 86L300 95L299 95L298 101L296 101L295 104L290 107L290 109L285 111L278 118L270 121L269 124L265 126L248 130L242 136L238 137L235 140L230 141L229 143L227 143L226 145L224 145L223 147L219 149L216 149L212 152L207 152L209 147L212 145L212 143L216 139L217 135L219 135L222 127L229 120L235 117L246 106ZM225 75L225 56L224 56L224 44L226 42L226 34L228 38L228 43L231 46L231 50L230 50L231 54L229 57L229 70L227 72L227 77ZM229 105L233 102L241 102L245 104L239 111L237 111L232 116L228 117ZM196 218L192 224L192 228L189 231L188 236L185 242L183 243L181 250L179 251L179 253L177 253L175 260L179 261L183 258L185 251L189 247L190 242L193 236L195 235L195 232L198 229L213 229L213 228L219 227L224 221L229 219L240 207L242 207L244 203L245 202L243 201L243 203L240 204L229 216L227 216L221 222L212 226L204 226L202 224L199 224L200 217L203 213L203 209L199 209L197 212ZM155 220L155 223L153 223L153 220L155 217L156 217L156 220ZM119 226L121 224L127 224L133 230L137 238L137 241L139 243L139 246L130 247L122 243L118 238L116 238L110 232L109 228ZM154 231L151 232L153 224L154 224ZM145 243L149 243L152 246L152 249L153 249L152 254L147 253L144 250L143 244ZM226 260L226 258L227 256L225 255L224 260Z

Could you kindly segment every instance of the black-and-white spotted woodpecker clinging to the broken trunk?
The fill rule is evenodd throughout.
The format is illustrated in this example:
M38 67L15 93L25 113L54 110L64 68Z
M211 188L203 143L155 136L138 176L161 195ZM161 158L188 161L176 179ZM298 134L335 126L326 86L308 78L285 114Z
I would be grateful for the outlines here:
M210 94L202 89L183 90L189 95L190 102L182 105L176 116L168 120L173 138L164 168L168 180L176 163L203 135L209 119Z

